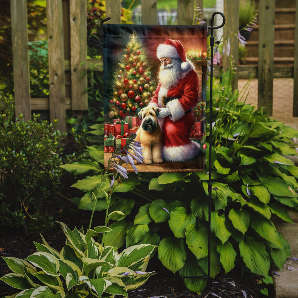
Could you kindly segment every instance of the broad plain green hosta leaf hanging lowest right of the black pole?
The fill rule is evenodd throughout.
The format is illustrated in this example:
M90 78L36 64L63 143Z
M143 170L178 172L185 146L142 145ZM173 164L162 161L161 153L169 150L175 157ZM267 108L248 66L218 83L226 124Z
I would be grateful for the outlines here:
M240 256L252 273L268 275L270 257L263 242L247 237L239 243L239 250Z

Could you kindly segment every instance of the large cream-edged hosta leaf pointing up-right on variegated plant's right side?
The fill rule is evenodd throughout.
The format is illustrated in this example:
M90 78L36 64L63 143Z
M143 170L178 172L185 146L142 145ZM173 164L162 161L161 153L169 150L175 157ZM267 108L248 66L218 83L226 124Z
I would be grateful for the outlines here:
M150 256L156 246L150 244L133 245L124 249L117 256L117 266L130 267Z

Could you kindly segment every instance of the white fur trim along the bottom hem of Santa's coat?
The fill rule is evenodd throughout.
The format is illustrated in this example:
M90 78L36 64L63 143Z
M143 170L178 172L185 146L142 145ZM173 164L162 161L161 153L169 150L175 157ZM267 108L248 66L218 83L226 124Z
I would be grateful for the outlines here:
M200 152L200 145L195 141L177 147L162 147L162 158L170 162L184 162L192 159Z

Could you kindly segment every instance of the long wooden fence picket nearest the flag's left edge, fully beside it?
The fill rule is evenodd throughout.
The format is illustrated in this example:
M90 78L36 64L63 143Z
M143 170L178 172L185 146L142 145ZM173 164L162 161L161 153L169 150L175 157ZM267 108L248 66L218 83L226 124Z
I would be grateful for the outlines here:
M72 110L88 110L87 88L87 18L86 0L69 2L70 70L72 81ZM85 74L82 76L83 72Z

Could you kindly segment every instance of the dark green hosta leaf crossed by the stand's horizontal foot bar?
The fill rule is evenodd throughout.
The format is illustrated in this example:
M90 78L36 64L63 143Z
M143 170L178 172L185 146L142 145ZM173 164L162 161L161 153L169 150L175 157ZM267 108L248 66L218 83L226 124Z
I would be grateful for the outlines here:
M206 276L204 271L198 266L194 256L187 256L184 266L179 269L181 278L184 276ZM184 283L190 291L201 294L207 284L206 278L185 278Z

